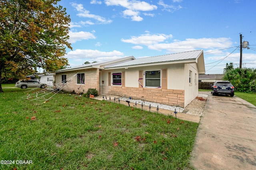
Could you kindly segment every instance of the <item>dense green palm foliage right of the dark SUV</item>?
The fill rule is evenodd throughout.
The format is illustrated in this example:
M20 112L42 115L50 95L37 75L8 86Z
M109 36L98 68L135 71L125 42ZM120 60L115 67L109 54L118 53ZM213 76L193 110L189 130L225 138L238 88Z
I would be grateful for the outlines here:
M224 80L229 80L236 91L256 92L256 68L233 68L224 74Z

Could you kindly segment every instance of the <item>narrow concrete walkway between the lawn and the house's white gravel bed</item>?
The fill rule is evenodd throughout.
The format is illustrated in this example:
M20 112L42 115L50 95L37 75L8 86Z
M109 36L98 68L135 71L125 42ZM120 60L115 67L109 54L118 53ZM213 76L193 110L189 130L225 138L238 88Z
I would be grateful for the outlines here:
M118 102L118 98L119 98L120 96L112 96L112 95L105 95L105 94L102 94L102 95L100 95L100 96L95 97L94 99L96 99L96 100L103 100L103 97L102 97L102 96L104 96L104 100L106 100L106 96L107 96L107 101L108 101L108 102L109 102L109 101L114 102L114 98L116 98L116 103L119 103L119 102ZM111 100L109 100L109 98L110 98ZM126 101L124 101L124 100L120 100L120 104L124 104L124 105L126 105L126 106L129 106L129 105L128 105L128 102L126 102ZM143 109L143 110L149 111L149 106L143 106L143 108L142 108L141 105L137 104L137 105L135 106L135 103L132 103L132 102L130 102L130 106L131 106L131 107L134 107L134 108L136 107L136 108L138 108L138 109ZM150 111L151 111L151 112L157 112L157 109L156 109L156 107L151 107L151 108L150 108ZM171 110L166 110L166 109L160 109L160 108L159 108L158 113L161 113L161 114L164 114L164 115L172 115L173 117L175 117L174 111L171 111ZM196 123L199 123L199 122L200 122L200 116L190 115L190 114L186 114L186 113L177 112L176 117L177 117L178 119L182 119L182 120L186 120L186 121L192 121L192 122L196 122Z

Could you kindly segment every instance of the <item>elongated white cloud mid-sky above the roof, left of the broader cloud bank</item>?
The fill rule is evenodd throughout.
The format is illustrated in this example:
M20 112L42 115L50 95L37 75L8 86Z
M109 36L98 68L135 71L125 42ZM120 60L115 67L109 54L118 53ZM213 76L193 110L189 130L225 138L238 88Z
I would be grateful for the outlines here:
M165 34L143 34L138 37L131 37L130 39L121 39L121 41L125 43L132 43L136 45L152 45L152 44L157 44L160 42L165 41L166 39L172 38L172 35L165 35Z

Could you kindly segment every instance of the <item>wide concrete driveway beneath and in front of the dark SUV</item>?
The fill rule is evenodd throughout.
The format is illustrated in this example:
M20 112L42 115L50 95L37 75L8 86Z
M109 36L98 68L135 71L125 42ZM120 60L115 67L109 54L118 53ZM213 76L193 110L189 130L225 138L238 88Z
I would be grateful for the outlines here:
M256 170L256 107L237 96L203 93L209 96L192 166L198 170Z

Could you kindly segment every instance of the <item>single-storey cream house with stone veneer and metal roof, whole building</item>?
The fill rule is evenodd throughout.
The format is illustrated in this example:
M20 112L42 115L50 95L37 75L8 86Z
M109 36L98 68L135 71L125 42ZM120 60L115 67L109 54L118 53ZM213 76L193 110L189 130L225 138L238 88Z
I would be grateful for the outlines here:
M100 94L144 99L186 107L198 96L198 75L204 74L202 50L135 59L84 64L56 71L56 84L75 76L64 88L86 93L96 88Z

